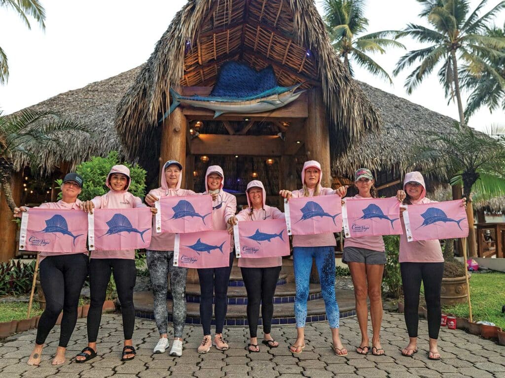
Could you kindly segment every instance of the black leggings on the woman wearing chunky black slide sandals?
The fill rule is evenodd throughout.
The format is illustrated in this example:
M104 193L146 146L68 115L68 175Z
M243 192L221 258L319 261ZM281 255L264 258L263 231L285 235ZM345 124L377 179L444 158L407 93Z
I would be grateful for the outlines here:
M135 260L131 259L91 259L89 263L89 289L91 303L88 311L88 342L95 343L102 320L102 307L105 302L107 285L111 270L116 282L121 314L123 315L123 333L125 340L130 340L135 327L135 307L133 306L133 287L137 278Z

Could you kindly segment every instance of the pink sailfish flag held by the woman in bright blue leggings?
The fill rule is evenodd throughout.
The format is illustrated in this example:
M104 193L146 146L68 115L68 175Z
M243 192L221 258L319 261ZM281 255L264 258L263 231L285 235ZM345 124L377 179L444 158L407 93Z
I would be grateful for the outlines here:
M342 230L342 203L338 195L284 200L288 234L313 235Z

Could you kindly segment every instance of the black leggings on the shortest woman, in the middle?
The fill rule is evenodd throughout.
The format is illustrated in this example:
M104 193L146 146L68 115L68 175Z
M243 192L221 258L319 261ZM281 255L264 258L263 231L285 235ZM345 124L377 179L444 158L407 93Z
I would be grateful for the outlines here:
M240 268L247 291L247 322L250 337L257 337L258 318L263 319L263 333L270 333L274 314L274 293L281 267Z

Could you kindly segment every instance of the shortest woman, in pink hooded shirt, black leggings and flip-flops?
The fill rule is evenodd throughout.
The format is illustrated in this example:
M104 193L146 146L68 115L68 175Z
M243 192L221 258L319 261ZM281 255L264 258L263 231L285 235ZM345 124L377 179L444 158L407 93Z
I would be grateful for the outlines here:
M251 220L284 218L284 213L279 209L265 204L267 195L263 182L252 180L247 184L248 207L231 217L230 225ZM249 352L259 352L258 345L258 318L260 316L260 302L263 319L263 341L269 348L277 348L279 343L270 335L272 316L274 314L273 298L279 273L282 267L282 258L268 257L258 259L238 259L238 266L242 272L245 290L247 291L247 322L249 323L250 342L247 345Z

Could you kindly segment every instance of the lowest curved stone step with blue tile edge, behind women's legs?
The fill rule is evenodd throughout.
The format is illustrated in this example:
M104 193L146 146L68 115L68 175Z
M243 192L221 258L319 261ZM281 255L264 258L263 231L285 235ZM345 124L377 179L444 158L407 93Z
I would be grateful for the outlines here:
M335 289L336 298L340 308L340 318L356 316L354 291ZM140 318L154 319L153 314L153 293L150 291L140 291L133 293L135 304L135 315ZM167 300L169 311L169 321L172 321L172 301ZM260 312L261 313L261 312ZM247 325L246 305L234 304L228 306L225 325L244 326ZM326 309L323 299L316 299L307 302L307 322L322 322L327 320ZM213 321L214 322L214 321ZM186 313L187 324L200 324L199 303L187 303ZM272 324L294 324L293 303L279 303L274 305L274 316ZM214 324L214 323L213 323ZM259 321L261 324L261 319Z

